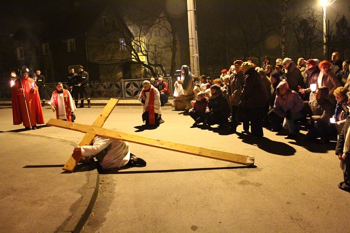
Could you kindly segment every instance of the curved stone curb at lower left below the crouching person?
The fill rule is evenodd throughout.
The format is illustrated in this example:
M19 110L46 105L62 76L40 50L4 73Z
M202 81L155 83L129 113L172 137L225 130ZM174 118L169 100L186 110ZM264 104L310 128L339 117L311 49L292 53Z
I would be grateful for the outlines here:
M90 215L98 194L99 174L97 169L88 172L87 187L81 197L79 206L73 212L63 230L58 232L79 232Z

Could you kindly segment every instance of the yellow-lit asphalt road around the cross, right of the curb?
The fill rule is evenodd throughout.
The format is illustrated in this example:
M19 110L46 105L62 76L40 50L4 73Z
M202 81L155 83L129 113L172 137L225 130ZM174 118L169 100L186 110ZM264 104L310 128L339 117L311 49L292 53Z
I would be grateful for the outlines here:
M101 109L78 109L76 122L92 124ZM11 117L10 110L0 109L1 118ZM256 139L216 127L191 128L192 119L170 107L162 109L165 122L149 130L139 127L141 111L117 105L103 127L253 155L255 166L130 143L131 152L147 165L100 175L98 197L82 232L350 232L349 193L337 187L343 177L334 141L306 143L305 131L295 141L265 129ZM44 115L45 121L54 117L49 108ZM21 128L0 126L1 131ZM71 142L60 145L65 150L83 136L55 127L33 133Z

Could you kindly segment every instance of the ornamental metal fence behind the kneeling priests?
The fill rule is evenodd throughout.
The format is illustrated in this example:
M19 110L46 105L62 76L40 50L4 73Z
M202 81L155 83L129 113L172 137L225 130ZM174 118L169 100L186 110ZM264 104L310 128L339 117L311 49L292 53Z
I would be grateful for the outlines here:
M142 82L149 78L138 79L120 79L113 82L90 82L88 88L91 98L138 98L142 89ZM163 77L163 80L168 83L170 96L172 96L174 82L176 78ZM157 81L157 80L155 80ZM62 82L64 88L68 89L66 82ZM52 92L55 90L55 83L45 84L45 99L51 98ZM42 98L42 96L40 96ZM11 87L0 86L0 99L11 98Z

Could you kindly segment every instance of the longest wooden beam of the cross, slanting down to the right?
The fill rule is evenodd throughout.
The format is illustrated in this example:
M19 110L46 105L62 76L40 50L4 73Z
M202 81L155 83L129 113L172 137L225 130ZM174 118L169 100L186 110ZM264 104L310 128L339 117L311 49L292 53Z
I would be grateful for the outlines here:
M146 136L140 136L140 135L125 133L125 132L118 132L118 131L101 128L97 126L73 123L73 122L63 121L63 120L58 120L53 118L49 119L46 124L60 127L60 128L71 129L79 132L88 132L91 134L96 134L104 137L116 138L119 140L129 141L137 144L169 149L169 150L174 150L174 151L183 152L183 153L189 153L189 154L207 157L207 158L213 158L213 159L234 162L234 163L239 163L244 165L254 164L254 157L249 155L241 155L241 154L229 153L229 152L224 152L224 151L219 151L214 149L207 149L207 148L197 147L193 145L186 145L186 144L170 142L170 141L155 139L155 138L146 137Z

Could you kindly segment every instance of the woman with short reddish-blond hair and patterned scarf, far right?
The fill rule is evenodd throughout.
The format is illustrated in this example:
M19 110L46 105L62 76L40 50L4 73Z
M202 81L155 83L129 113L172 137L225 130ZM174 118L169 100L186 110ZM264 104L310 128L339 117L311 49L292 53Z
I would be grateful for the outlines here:
M346 95L347 92L348 92L348 89L343 86L339 86L333 92L336 99L336 106L335 106L334 115L330 120L330 122L332 123L332 125L335 126L337 130L337 135L340 134L341 129L344 126L344 123L346 121L347 100L348 100Z

